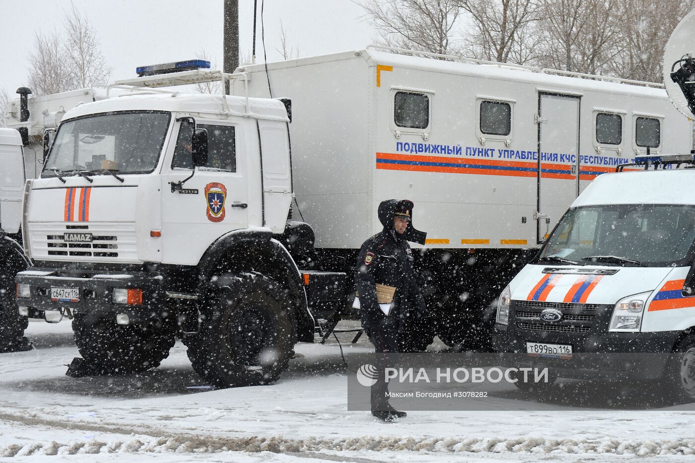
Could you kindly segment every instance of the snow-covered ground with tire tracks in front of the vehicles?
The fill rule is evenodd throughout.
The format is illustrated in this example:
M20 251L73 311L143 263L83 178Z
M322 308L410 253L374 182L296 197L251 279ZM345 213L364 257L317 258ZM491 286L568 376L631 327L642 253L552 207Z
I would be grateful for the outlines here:
M690 462L695 412L590 409L410 412L397 423L348 411L334 339L300 344L277 384L211 390L177 343L139 376L65 376L70 323L32 322L35 350L0 354L0 458L36 462ZM369 352L367 341L345 355ZM436 347L436 346L434 346ZM432 348L432 346L431 346ZM495 400L500 400L496 397ZM524 407L510 390L509 409ZM603 408L603 409L602 409ZM95 455L98 454L98 455Z

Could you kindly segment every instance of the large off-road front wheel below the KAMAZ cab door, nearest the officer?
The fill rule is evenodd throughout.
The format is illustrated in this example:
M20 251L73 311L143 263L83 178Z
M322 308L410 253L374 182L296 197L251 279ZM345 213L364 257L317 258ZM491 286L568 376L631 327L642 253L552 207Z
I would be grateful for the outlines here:
M216 387L270 384L293 355L293 310L284 289L259 274L218 279L188 340L193 369Z

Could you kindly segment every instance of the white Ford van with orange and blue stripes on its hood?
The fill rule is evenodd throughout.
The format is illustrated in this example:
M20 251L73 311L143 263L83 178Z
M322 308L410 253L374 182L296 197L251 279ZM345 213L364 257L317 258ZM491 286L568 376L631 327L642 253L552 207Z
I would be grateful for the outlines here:
M502 292L496 349L559 377L666 377L695 400L694 165L644 156L591 182Z

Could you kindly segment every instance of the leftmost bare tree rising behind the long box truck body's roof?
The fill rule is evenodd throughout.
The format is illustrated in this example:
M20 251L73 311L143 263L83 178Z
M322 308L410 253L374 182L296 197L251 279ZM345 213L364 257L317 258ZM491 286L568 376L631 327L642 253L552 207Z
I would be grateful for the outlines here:
M453 43L459 0L366 0L359 5L384 45L441 54L457 51Z

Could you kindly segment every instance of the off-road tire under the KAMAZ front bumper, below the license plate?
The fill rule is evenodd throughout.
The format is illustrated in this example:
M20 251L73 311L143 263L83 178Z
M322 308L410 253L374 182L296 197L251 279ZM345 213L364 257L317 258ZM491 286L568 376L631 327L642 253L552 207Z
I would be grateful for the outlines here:
M170 327L118 325L110 318L76 314L75 343L92 371L102 375L140 373L159 366L174 346Z

